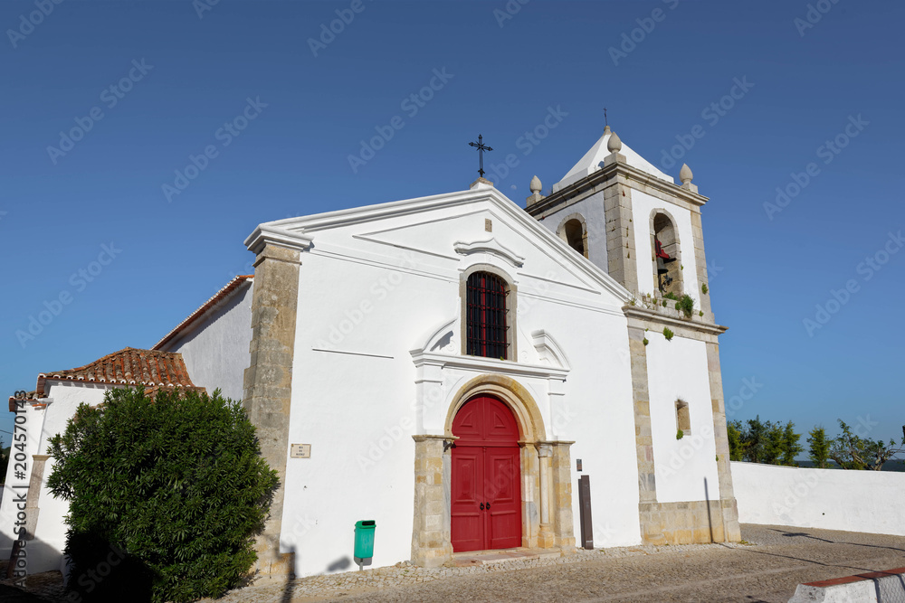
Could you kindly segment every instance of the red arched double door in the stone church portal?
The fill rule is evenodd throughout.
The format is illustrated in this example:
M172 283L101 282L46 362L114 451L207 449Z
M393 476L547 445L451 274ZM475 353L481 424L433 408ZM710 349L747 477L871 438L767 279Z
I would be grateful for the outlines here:
M519 425L491 396L472 398L452 420L452 550L521 546Z

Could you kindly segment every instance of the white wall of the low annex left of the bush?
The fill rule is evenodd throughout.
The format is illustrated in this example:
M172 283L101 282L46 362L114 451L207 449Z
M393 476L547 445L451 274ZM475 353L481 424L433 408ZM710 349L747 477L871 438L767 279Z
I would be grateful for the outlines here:
M66 429L66 423L79 408L82 402L100 404L104 392L109 386L93 383L53 382L48 380L44 392L50 401L45 409L34 409L26 405L25 423L28 430L28 476L24 480L14 478L14 462L11 461L6 475L6 486L3 504L0 505L0 556L9 557L13 545L13 528L16 513L14 504L15 490L12 485L28 485L33 467L33 455L47 454L49 440ZM62 550L66 545L66 526L63 515L69 512L66 501L53 498L47 490L47 478L53 469L53 459L48 459L44 466L41 495L38 499L38 521L34 530L34 538L27 541L28 572L61 570Z

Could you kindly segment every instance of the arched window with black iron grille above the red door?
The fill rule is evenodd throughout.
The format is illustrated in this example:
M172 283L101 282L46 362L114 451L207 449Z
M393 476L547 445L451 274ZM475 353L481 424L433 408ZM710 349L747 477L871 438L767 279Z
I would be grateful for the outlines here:
M469 276L465 289L467 353L506 360L506 281L488 272L475 272Z

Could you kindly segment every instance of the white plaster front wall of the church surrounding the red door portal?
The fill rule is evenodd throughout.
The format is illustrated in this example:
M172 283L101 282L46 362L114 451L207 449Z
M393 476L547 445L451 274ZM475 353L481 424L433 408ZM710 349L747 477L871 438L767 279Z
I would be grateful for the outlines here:
M565 383L516 378L538 403L548 438L576 442L574 532L581 458L591 476L595 545L640 542L624 300L576 268L584 259L565 246L550 250L489 202L306 234L315 244L302 254L289 438L312 448L310 458L288 461L281 538L284 551L294 547L300 575L351 561L361 519L376 520L375 566L411 557L412 435L443 433L462 384L494 370L443 368L441 401L419 407L410 352L452 321L452 341L441 337L438 352L459 355L460 278L480 263L505 270L518 287L518 363L543 365L531 338L539 329L567 355ZM524 265L453 250L456 241L491 236ZM560 389L561 396L551 391Z

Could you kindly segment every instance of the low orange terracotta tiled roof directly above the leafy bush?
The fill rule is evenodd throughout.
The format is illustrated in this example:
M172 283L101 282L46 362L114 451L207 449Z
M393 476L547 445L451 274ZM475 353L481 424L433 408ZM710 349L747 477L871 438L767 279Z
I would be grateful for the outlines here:
M48 379L111 385L140 383L146 386L148 393L160 387L205 391L205 388L196 387L192 382L181 353L138 350L134 347L107 354L100 360L76 369L40 373L35 394L37 398L43 398L44 382Z

